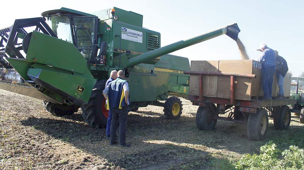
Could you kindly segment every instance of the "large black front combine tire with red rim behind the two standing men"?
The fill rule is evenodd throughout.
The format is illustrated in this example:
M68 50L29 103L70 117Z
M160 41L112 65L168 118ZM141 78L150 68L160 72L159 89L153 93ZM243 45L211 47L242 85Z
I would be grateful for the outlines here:
M104 128L107 125L109 111L106 109L106 100L102 95L105 84L105 80L96 83L89 102L81 105L82 117L93 128Z

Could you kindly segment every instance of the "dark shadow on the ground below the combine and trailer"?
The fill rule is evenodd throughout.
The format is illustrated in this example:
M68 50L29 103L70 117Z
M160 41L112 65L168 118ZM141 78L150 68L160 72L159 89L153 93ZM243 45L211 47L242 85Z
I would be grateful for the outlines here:
M81 114L67 118L82 120ZM197 165L195 169L208 169L214 166L210 164L217 159L211 156L213 152L257 152L269 140L285 143L286 146L293 143L303 148L303 140L298 136L304 133L302 126L291 125L288 130L278 131L269 123L267 139L251 141L247 139L244 124L218 121L214 130L203 131L196 128L195 117L168 120L131 114L128 117L127 140L131 141L132 147L120 148L108 144L105 129L92 129L84 123L36 117L29 117L21 123L130 169L180 169L193 164Z

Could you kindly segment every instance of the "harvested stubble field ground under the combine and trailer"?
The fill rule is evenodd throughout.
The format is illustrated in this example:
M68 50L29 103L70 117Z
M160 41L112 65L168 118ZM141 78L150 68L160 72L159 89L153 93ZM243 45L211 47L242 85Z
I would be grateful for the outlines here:
M81 110L54 117L41 100L0 90L0 169L215 169L231 166L243 153L257 153L273 140L280 148L303 148L303 124L292 116L288 130L269 120L265 141L247 139L246 125L218 121L214 130L196 128L197 106L182 100L178 120L167 120L163 108L130 112L130 148L110 146L105 129L92 129Z

